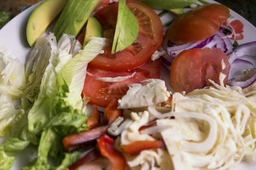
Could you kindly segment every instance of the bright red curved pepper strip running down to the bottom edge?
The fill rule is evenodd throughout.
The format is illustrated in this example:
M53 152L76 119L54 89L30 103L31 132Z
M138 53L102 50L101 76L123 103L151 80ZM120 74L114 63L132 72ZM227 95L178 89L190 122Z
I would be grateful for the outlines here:
M110 160L112 170L124 170L126 167L126 160L124 155L114 147L114 139L109 135L102 135L97 140L97 148L103 157Z

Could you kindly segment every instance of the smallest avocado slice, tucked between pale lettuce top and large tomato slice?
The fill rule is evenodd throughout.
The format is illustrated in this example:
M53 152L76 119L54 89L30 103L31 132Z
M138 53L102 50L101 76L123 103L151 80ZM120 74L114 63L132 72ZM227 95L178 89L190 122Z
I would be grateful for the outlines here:
M83 43L83 47L87 45L90 37L102 37L102 26L99 21L93 16L90 16L87 21L87 26L85 30L85 40Z

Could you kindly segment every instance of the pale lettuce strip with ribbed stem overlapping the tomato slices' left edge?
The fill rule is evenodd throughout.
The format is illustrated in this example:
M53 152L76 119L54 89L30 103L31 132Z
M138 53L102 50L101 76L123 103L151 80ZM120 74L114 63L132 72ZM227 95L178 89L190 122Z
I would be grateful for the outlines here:
M60 75L69 88L69 93L65 101L70 103L71 106L74 106L74 108L84 107L82 106L80 96L85 81L87 64L98 54L102 53L102 49L110 45L110 42L111 41L107 38L91 37L84 49L80 50L78 55L75 55L75 57L63 67Z

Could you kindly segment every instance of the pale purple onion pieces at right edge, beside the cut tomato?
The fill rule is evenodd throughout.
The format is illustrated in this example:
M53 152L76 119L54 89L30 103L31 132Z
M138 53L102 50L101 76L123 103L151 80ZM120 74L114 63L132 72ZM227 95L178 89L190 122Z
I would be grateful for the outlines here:
M245 88L256 80L256 42L235 47L230 54L228 85Z

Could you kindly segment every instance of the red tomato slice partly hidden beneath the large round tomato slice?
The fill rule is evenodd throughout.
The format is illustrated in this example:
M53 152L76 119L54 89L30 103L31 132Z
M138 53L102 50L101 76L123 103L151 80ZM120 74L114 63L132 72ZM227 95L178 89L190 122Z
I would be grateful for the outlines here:
M149 61L136 69L127 72L111 72L104 69L97 69L89 66L86 75L82 96L90 98L90 103L97 106L106 107L113 98L122 98L127 93L128 84L139 83L144 79L158 79L161 73L161 61ZM105 82L97 77L125 77L132 75L130 79L118 82Z

